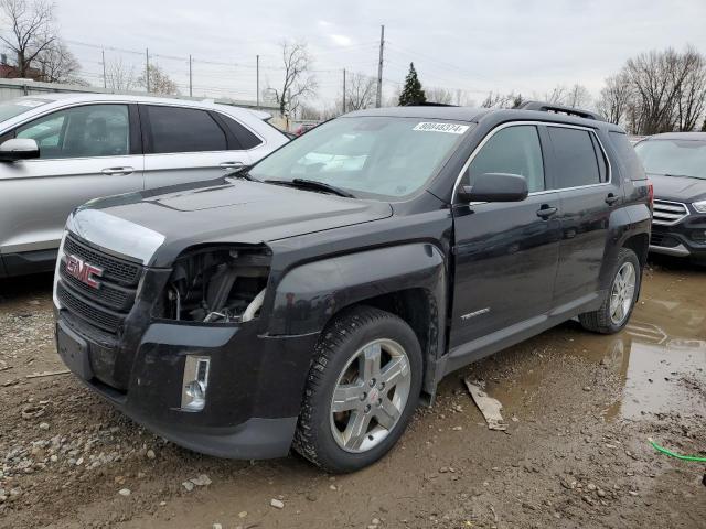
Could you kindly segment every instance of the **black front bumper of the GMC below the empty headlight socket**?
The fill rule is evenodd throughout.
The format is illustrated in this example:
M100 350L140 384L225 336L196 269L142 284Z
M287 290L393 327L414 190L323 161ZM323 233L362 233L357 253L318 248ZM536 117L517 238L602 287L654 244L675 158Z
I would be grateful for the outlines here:
M288 454L318 338L260 336L256 327L152 323L130 355L98 343L56 311L57 350L86 386L181 446L244 460ZM182 408L189 355L210 359L201 411ZM121 357L132 359L127 384L118 388L110 374Z

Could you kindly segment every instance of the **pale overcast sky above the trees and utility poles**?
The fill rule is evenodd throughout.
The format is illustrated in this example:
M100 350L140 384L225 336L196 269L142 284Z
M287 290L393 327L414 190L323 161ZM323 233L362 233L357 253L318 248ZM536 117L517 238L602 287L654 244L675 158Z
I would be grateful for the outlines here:
M103 84L106 61L143 68L145 48L189 94L254 100L281 83L284 40L307 42L319 89L332 105L342 69L377 76L385 24L384 100L414 61L425 87L463 90L480 104L489 91L542 96L557 85L603 79L638 53L692 44L706 53L706 0L56 0L63 39L86 78Z

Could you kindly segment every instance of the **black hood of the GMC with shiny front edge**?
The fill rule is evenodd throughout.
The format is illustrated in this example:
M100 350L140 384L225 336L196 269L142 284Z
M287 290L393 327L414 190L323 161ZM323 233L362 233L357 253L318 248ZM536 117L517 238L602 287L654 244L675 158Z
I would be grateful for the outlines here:
M384 202L218 179L92 201L72 214L67 226L115 253L168 267L193 245L261 244L392 213Z

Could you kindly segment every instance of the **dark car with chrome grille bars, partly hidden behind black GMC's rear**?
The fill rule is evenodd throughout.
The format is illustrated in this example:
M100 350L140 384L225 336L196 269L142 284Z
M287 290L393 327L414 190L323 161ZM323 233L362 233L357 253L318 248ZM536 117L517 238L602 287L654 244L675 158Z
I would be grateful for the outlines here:
M656 134L635 151L654 183L650 250L706 264L706 133Z

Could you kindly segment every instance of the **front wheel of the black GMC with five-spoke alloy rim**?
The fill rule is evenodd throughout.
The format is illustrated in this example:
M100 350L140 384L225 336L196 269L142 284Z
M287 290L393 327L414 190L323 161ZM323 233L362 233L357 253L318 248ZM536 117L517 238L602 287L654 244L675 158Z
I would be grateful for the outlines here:
M417 407L421 366L419 341L398 316L370 306L336 316L317 345L295 450L334 473L376 462Z

